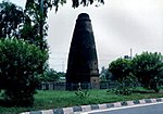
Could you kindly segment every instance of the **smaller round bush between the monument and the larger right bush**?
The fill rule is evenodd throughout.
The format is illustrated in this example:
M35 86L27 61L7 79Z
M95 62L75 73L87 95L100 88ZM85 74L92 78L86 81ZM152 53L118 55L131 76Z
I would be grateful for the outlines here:
M131 74L131 60L117 59L109 65L109 71L112 73L113 79L123 81L123 78L130 76Z

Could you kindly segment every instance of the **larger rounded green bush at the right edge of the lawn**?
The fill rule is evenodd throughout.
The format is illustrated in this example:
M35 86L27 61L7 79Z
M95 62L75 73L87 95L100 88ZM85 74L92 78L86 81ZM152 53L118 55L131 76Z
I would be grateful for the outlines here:
M163 81L163 56L158 52L142 52L133 59L134 75L145 88L159 92Z

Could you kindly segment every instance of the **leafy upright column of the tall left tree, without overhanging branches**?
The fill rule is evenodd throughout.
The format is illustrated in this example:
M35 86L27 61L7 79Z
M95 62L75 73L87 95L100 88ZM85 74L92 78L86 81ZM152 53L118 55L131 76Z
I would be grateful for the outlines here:
M28 21L24 24L22 37L30 40L32 43L38 46L41 50L47 50L48 45L46 36L48 35L48 24L46 18L48 17L49 0L27 0L25 7L25 14L28 15ZM41 5L42 4L42 5Z

